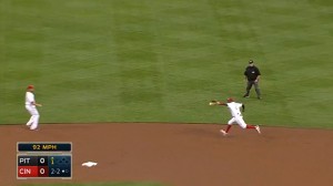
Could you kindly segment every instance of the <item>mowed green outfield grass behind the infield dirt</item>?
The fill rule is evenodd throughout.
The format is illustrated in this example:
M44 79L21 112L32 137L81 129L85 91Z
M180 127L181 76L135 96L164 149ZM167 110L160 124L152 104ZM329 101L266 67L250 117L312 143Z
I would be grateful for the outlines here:
M1 0L0 123L26 123L36 85L42 123L226 123L332 127L330 0ZM263 100L244 100L243 70ZM254 93L254 92L253 92ZM254 94L252 94L254 97Z

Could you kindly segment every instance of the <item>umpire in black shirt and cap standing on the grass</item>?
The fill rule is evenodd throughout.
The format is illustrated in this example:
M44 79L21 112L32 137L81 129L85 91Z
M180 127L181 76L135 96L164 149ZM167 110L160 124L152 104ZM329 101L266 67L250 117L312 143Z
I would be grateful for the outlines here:
M261 92L259 89L259 80L260 80L261 73L260 73L259 69L254 65L254 62L252 60L249 61L249 65L245 69L244 75L245 75L248 85L246 85L246 93L243 95L243 97L250 97L250 90L251 90L252 85L254 85L254 89L256 92L256 97L260 100Z

